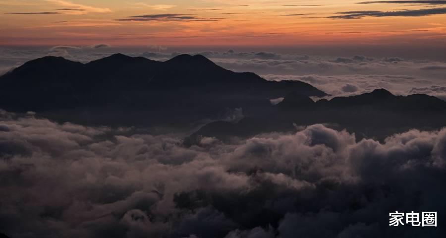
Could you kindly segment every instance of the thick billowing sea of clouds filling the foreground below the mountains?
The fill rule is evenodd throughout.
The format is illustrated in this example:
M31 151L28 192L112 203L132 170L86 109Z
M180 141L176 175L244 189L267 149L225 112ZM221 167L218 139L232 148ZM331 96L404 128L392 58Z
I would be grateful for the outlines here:
M4 111L0 128L0 230L10 237L446 232L388 223L396 209L446 209L446 129L409 130L380 143L316 124L234 144L203 138L187 148L173 134Z

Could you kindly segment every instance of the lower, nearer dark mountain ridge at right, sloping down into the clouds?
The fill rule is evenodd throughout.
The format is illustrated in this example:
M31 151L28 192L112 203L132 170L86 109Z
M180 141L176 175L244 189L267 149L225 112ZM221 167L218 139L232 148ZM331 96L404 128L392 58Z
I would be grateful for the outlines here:
M186 138L187 145L199 143L201 137L248 137L273 131L294 131L296 126L325 123L335 129L356 133L357 139L387 136L412 128L439 129L446 125L446 102L425 94L395 96L377 89L350 97L313 101L292 92L263 117L247 117L238 123L209 123ZM223 129L222 129L223 128Z

